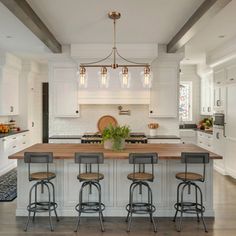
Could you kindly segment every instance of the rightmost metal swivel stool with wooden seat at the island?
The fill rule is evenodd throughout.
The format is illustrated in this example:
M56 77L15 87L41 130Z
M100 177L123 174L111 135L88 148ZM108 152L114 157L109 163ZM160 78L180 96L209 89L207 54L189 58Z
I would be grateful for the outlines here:
M207 227L204 221L203 213L205 208L203 206L203 196L201 188L196 182L205 181L206 163L209 163L209 153L181 153L181 162L185 164L185 172L180 172L175 175L181 183L177 187L177 203L174 205L176 212L173 221L176 221L178 212L180 212L180 219L177 231L180 232L182 229L183 213L196 214L197 221L200 221L199 214L204 225L205 232ZM189 172L189 164L202 164L202 173ZM191 187L195 190L195 201L189 202L184 201L185 190L188 190L188 194L191 194ZM200 197L200 201L199 201Z

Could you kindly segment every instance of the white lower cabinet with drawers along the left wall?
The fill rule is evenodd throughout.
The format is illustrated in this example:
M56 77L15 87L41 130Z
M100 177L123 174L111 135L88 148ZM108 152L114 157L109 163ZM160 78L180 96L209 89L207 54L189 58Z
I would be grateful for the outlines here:
M0 139L0 175L16 167L15 160L9 160L8 156L30 146L29 132L10 135Z

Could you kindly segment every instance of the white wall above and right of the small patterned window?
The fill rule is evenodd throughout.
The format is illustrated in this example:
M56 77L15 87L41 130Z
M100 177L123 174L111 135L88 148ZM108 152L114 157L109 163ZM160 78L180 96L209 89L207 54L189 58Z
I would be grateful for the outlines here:
M180 81L192 82L192 101L193 101L193 116L192 121L185 123L197 124L200 119L200 102L201 102L201 79L197 74L197 67L195 65L181 65Z

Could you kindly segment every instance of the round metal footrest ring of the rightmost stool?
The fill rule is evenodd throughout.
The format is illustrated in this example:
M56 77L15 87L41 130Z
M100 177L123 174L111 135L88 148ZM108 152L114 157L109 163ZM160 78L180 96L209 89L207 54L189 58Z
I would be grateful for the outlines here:
M198 214L205 212L205 207L195 202L183 202L182 204L176 203L174 207L177 211L183 211L184 213L188 214Z

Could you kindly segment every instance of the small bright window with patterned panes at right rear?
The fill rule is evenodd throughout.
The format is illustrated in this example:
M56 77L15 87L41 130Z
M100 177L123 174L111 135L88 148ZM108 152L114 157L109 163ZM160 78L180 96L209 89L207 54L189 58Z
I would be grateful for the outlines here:
M181 121L192 121L192 81L180 82L179 119Z

